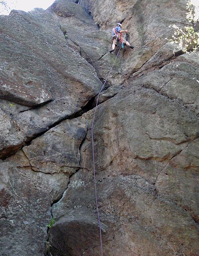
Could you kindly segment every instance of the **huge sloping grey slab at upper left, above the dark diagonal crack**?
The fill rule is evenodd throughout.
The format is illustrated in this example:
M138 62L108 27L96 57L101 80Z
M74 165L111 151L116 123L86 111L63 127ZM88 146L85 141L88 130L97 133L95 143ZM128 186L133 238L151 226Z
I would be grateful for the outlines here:
M54 14L12 11L0 17L0 24L0 98L7 100L1 102L7 125L0 128L0 157L5 158L80 111L98 93L101 81L92 65L66 44ZM18 104L32 109L12 111Z

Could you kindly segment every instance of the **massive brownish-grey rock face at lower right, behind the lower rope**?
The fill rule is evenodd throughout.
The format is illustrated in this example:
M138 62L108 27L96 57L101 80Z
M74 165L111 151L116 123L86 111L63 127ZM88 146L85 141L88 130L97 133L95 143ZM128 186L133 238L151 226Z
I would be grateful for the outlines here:
M93 113L85 114L88 127ZM197 255L198 132L197 116L178 100L138 85L130 84L98 107L94 152L106 255ZM59 250L63 255L100 253L95 240L86 251L81 235L71 242L68 228L74 233L85 228L78 218L68 219L70 214L83 211L86 221L96 212L91 141L88 131L81 169L52 207L58 220L49 233L52 255L59 255ZM92 224L90 228L95 232ZM55 237L63 230L69 234L58 242ZM78 250L69 253L71 243Z

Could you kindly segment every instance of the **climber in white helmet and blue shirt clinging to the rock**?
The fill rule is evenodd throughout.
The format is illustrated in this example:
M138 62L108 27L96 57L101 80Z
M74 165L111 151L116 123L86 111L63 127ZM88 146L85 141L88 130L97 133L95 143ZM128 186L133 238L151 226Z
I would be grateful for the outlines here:
M112 29L112 34L113 34L112 42L113 42L113 44L112 44L112 50L109 51L110 53L114 52L115 46L117 46L118 42L123 43L123 45L129 46L129 48L131 48L131 49L134 48L122 36L122 33L128 33L128 31L127 30L122 30L121 28L122 28L122 25L120 23L117 23L116 27Z

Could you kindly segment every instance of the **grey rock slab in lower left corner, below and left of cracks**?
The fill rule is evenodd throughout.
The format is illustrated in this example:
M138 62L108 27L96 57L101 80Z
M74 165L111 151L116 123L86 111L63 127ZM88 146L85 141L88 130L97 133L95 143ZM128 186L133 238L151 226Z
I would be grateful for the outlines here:
M68 177L63 173L32 171L22 151L0 163L2 255L43 255L51 204L67 184Z

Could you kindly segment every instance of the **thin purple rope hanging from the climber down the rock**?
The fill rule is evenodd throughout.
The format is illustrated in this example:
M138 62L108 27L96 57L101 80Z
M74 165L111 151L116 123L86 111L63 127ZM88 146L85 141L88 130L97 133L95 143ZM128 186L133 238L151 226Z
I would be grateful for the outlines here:
M119 48L119 51L121 49L121 45L120 45L120 48ZM117 56L119 54L119 51L117 53ZM115 58L115 61L117 59L117 56ZM113 65L115 64L115 61L113 62ZM94 138L93 138L93 126L94 126L94 121L95 121L95 117L96 117L96 110L97 110L97 106L98 106L98 100L99 100L99 96L100 96L100 93L113 69L113 65L109 71L109 74L107 75L107 78L105 80L105 82L103 83L101 89L100 89L100 92L98 93L98 98L97 98L97 102L96 102L96 107L95 107L95 112L94 112L94 117L93 117L93 121L92 121L92 127L91 127L91 134L92 134L92 153L93 153L93 169L94 169L94 186L95 186L95 194L96 194L96 207L97 207L97 212L98 212L98 224L99 224L99 229L100 229L100 246L101 246L101 256L103 256L103 249L102 249L102 239L101 239L101 222L100 222L100 212L99 212L99 207L98 207L98 195L97 195L97 187L96 187L96 168L95 168L95 156L94 156Z

